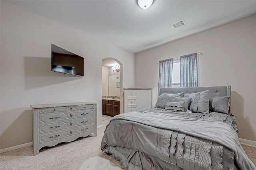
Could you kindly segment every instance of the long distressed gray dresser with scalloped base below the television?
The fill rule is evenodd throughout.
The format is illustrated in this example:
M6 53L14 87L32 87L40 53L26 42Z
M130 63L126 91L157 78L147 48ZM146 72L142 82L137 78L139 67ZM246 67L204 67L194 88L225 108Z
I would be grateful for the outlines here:
M41 104L32 108L34 155L42 147L97 136L97 104L94 102Z

